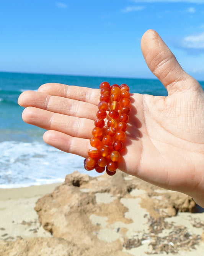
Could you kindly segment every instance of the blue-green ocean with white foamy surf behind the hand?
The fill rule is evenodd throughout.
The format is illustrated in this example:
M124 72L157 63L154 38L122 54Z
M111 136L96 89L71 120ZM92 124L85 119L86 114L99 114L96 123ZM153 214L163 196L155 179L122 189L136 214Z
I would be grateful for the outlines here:
M17 100L23 91L37 90L44 83L99 88L102 81L110 84L126 83L131 93L167 95L163 85L156 79L0 72L0 188L63 182L65 176L75 170L97 175L95 171L84 170L82 157L44 143L44 130L23 122L23 108ZM204 82L201 85L204 86Z

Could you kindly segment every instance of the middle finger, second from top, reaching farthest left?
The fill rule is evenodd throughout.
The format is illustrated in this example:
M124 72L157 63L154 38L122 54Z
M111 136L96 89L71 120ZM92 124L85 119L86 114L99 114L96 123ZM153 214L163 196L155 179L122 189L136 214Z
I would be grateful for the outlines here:
M83 101L67 99L60 96L51 96L37 91L24 91L18 99L20 106L33 106L54 113L78 116L95 120L97 106Z

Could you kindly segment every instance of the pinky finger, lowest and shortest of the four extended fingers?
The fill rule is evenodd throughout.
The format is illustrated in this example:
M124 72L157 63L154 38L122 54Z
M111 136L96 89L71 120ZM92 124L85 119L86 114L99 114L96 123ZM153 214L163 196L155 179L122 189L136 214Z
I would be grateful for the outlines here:
M90 143L90 140L88 139L76 138L60 131L49 130L44 133L43 140L59 150L85 158L87 157L88 146Z

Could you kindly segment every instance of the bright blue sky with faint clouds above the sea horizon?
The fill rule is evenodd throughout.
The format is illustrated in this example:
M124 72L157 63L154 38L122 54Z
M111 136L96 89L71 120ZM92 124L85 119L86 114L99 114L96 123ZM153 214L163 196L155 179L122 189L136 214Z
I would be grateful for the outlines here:
M204 0L0 0L0 71L155 78L140 40L156 30L204 81Z

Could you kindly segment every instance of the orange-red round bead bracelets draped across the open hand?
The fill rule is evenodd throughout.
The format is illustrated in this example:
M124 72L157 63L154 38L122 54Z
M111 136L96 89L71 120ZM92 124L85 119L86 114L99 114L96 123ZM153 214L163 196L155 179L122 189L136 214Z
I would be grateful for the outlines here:
M103 82L100 89L100 103L94 122L95 128L92 130L93 138L90 140L84 168L87 171L95 169L98 173L106 170L108 175L113 176L124 148L125 131L131 111L130 93L126 84L110 86L108 82Z

